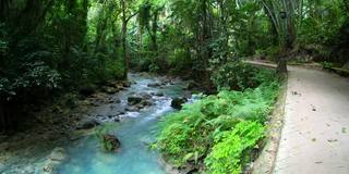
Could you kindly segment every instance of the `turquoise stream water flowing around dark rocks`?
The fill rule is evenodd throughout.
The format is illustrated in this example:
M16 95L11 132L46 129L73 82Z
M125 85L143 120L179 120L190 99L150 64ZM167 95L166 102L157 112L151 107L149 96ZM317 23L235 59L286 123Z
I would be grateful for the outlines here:
M84 137L67 145L69 160L63 163L59 174L165 174L158 161L158 152L151 150L159 133L157 122L166 113L173 112L170 107L171 97L183 96L183 83L166 85L161 88L149 88L147 84L158 82L158 78L132 74L130 79L136 82L127 91L116 96L121 103L101 105L95 113L108 114L118 112L125 107L127 97L134 92L164 92L164 97L153 97L155 104L141 112L128 112L120 123L113 126L115 135L121 141L121 150L117 153L105 153L95 136Z

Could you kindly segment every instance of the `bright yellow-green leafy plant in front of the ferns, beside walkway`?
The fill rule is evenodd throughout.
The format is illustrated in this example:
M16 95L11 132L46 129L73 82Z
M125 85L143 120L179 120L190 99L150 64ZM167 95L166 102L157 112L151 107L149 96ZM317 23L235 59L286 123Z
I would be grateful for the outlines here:
M261 123L249 121L242 121L232 130L221 133L216 137L216 145L205 160L208 171L213 174L242 173L241 163L244 159L241 157L248 157L264 134Z

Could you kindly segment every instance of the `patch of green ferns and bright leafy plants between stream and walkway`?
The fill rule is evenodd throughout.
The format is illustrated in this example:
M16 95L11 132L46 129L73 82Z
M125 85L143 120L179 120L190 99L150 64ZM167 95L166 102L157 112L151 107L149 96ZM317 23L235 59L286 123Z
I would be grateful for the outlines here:
M268 75L262 78L268 80L257 88L222 90L217 96L203 96L198 101L184 105L180 112L168 115L161 123L164 130L158 138L158 148L176 165L193 161L202 163L206 159L213 173L225 170L219 169L221 165L229 165L226 169L229 171L234 165L244 165L243 151L254 148L263 137L262 124L267 121L278 94L278 80L273 78L273 74ZM231 141L237 144L225 146ZM221 154L221 148L229 151ZM225 158L230 152L237 152L230 157L236 164L233 161L228 164L224 161L230 160Z

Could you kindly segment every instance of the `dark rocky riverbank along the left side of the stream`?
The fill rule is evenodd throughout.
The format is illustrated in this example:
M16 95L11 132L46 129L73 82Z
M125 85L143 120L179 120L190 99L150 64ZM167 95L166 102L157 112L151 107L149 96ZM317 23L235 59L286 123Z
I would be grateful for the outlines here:
M110 91L100 88L88 96L67 94L47 107L26 113L27 119L20 124L23 128L0 136L0 173L33 173L35 169L31 164L35 161L45 158L64 141L88 134L88 128L94 126L91 124L93 115L88 112L98 105L118 102L110 97L111 89L117 92L130 86L127 82L113 84L115 87L108 87Z

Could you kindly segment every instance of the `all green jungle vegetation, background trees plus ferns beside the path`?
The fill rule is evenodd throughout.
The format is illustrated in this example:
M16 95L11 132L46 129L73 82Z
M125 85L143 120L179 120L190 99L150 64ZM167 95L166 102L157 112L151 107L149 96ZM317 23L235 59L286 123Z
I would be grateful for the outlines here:
M130 71L177 75L217 95L166 116L156 146L179 166L241 173L287 62L349 67L348 16L347 0L1 0L0 129Z

